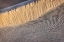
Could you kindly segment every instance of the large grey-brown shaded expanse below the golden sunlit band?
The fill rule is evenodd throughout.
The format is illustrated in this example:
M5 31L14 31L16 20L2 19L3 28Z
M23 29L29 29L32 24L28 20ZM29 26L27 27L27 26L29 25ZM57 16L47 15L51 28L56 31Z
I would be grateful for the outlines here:
M64 42L64 3L34 21L1 28L0 42Z

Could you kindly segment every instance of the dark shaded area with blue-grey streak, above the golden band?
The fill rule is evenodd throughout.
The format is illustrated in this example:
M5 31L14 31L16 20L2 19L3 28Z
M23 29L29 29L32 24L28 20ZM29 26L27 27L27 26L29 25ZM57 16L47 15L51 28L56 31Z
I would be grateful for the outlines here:
M0 0L0 13L16 9L37 0Z

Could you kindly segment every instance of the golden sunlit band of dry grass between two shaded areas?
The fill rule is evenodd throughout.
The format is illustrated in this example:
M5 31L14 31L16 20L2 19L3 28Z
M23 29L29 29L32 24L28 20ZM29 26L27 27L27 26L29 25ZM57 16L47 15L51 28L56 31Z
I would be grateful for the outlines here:
M38 0L9 12L0 13L0 27L24 24L37 19L50 9L62 4L64 0Z

